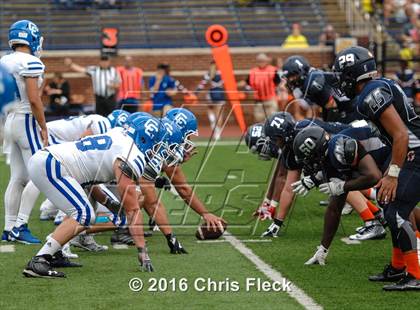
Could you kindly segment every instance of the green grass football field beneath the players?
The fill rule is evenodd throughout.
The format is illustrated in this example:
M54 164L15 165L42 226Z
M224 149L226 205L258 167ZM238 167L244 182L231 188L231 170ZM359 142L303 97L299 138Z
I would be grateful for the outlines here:
M223 215L228 230L239 239L260 239L269 225L256 222L251 214L261 201L273 163L258 161L243 147L199 148L199 154L185 164L185 171L197 194L208 208ZM8 168L0 166L0 204L8 181ZM74 250L82 268L66 269L66 279L27 279L23 267L38 246L16 244L14 253L0 253L0 309L295 309L302 308L285 292L245 291L249 277L267 280L245 256L227 242L198 243L194 237L199 217L179 198L164 193L164 203L174 230L189 251L188 255L168 253L166 240L156 232L148 247L156 271L138 271L134 248L116 250L109 244L110 234L97 235L108 244L103 253ZM390 251L389 236L381 241L347 245L340 241L360 225L356 215L346 216L332 245L325 267L304 266L319 244L324 207L318 193L298 198L279 238L271 242L245 243L263 261L303 289L325 309L408 309L418 307L415 293L384 293L380 284L367 276L382 269ZM40 201L39 201L40 202ZM51 222L40 222L39 203L33 211L30 228L44 238L53 229ZM3 212L0 212L3 224ZM128 282L138 277L145 282L141 292L132 292ZM148 292L148 279L186 278L187 292ZM197 292L197 278L238 281L239 292Z

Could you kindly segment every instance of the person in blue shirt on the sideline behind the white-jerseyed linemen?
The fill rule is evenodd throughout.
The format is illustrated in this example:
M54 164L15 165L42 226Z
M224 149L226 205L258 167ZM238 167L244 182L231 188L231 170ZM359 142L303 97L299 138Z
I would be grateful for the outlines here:
M173 107L172 97L178 92L168 64L158 64L156 74L149 79L149 89L154 114L165 115Z

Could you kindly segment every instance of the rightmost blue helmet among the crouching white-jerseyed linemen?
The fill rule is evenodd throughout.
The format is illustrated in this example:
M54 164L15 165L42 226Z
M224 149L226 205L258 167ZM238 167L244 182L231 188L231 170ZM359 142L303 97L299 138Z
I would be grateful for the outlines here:
M198 136L198 123L194 113L184 108L174 108L166 113L165 118L174 122L184 136L183 148L186 152L191 152L195 145L191 141L191 135Z

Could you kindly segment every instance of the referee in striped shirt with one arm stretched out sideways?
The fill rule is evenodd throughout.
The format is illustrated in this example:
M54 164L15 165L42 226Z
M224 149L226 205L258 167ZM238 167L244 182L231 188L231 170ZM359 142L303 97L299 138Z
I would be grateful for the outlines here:
M98 66L82 67L70 58L64 59L64 64L73 71L87 74L92 79L95 94L95 113L107 116L116 108L116 93L120 87L120 77L117 70L111 66L108 56L102 55Z

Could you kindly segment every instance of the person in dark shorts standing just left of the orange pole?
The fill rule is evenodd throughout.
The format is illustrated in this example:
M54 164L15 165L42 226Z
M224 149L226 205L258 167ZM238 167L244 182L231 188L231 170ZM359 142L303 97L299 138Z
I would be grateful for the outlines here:
M210 127L213 130L213 138L215 140L219 140L223 126L223 115L221 112L226 101L222 76L220 75L220 71L217 70L216 63L214 61L210 63L209 71L204 75L196 89L196 92L202 91L209 83L210 89L207 93L207 115L209 117Z

